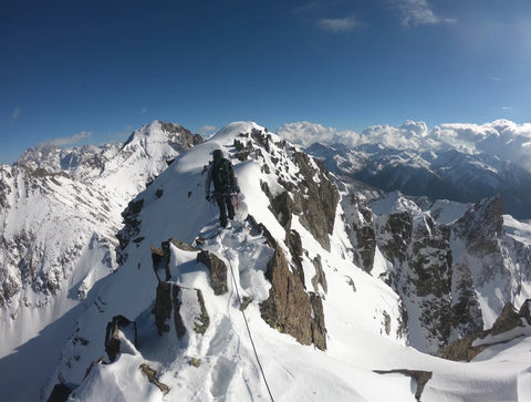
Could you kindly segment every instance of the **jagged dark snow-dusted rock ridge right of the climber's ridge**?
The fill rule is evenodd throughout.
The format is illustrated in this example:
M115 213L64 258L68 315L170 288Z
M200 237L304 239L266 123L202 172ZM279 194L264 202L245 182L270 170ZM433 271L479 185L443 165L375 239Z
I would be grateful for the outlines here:
M531 254L504 234L500 197L475 204L449 225L417 206L375 216L360 195L345 203L355 262L371 272L376 248L389 261L378 274L403 299L408 327L420 328L420 333L409 332L416 348L435 353L481 331L478 295L497 315L506 302L525 296L521 290L531 281ZM492 284L501 286L498 295L489 293Z

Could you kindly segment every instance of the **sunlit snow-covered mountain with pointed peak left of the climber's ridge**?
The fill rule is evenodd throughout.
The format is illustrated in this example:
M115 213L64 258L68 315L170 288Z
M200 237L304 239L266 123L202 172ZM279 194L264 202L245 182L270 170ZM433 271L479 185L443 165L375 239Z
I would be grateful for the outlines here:
M13 166L0 165L1 357L83 300L92 302L90 291L117 268L116 233L127 203L198 141L157 121L125 143L41 145Z

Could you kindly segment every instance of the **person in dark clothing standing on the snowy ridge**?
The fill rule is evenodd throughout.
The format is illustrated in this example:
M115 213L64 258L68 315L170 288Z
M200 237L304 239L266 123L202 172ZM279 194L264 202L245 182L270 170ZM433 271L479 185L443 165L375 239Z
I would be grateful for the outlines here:
M219 223L227 227L228 219L235 218L235 206L232 205L232 195L240 193L238 178L235 168L229 159L223 156L221 150L212 152L214 161L205 181L205 195L208 202L216 199L219 207ZM214 194L210 195L210 183L214 182Z

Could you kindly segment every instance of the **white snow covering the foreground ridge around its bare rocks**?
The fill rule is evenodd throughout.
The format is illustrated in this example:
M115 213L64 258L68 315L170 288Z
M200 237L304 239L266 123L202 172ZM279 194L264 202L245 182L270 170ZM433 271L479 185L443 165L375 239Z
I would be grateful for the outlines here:
M233 269L235 280L229 272L228 291L216 295L208 270L197 261L199 251L170 243L168 286L178 289L171 298L180 300L186 332L179 339L181 328L174 320L165 320L169 331L158 334L153 313L158 280L152 246L159 247L169 238L192 243L196 236L211 233L216 210L204 200L201 172L215 148L236 154L235 140L252 130L263 132L253 123L230 124L178 157L139 195L139 227L123 250L125 264L102 281L95 303L81 316L44 396L61 382L73 389L71 401L270 400L239 309L238 290L252 297L244 312L275 401L415 401L417 382L400 372L404 369L431 373L424 388L425 401L531 399L529 331L517 341L487 349L471 363L445 361L405 344L399 298L352 262L341 206L329 250L301 224L302 215L291 216L291 228L301 237L306 288L311 289L309 279L316 275L310 261L317 256L326 278L326 287L322 282L314 286L323 303L326 350L300 344L262 319L260 305L271 290L268 261L274 251L263 229L247 220L248 214L268 229L291 270L295 265L281 224L284 217L273 214L261 185L267 183L273 194L281 194L279 178L296 187L301 177L291 157L296 148L274 134L267 142L246 137L254 152L242 162L233 159L241 188L237 219L230 229L201 245ZM201 290L209 317L204 334L195 330L198 317L205 322L196 289ZM96 363L85 377L91 362L104 354L107 323L117 315L136 322L136 346L131 331L123 328L116 360ZM108 362L107 357L105 360ZM158 381L168 386L167 393L148 382L139 370L142 364L156 371Z

